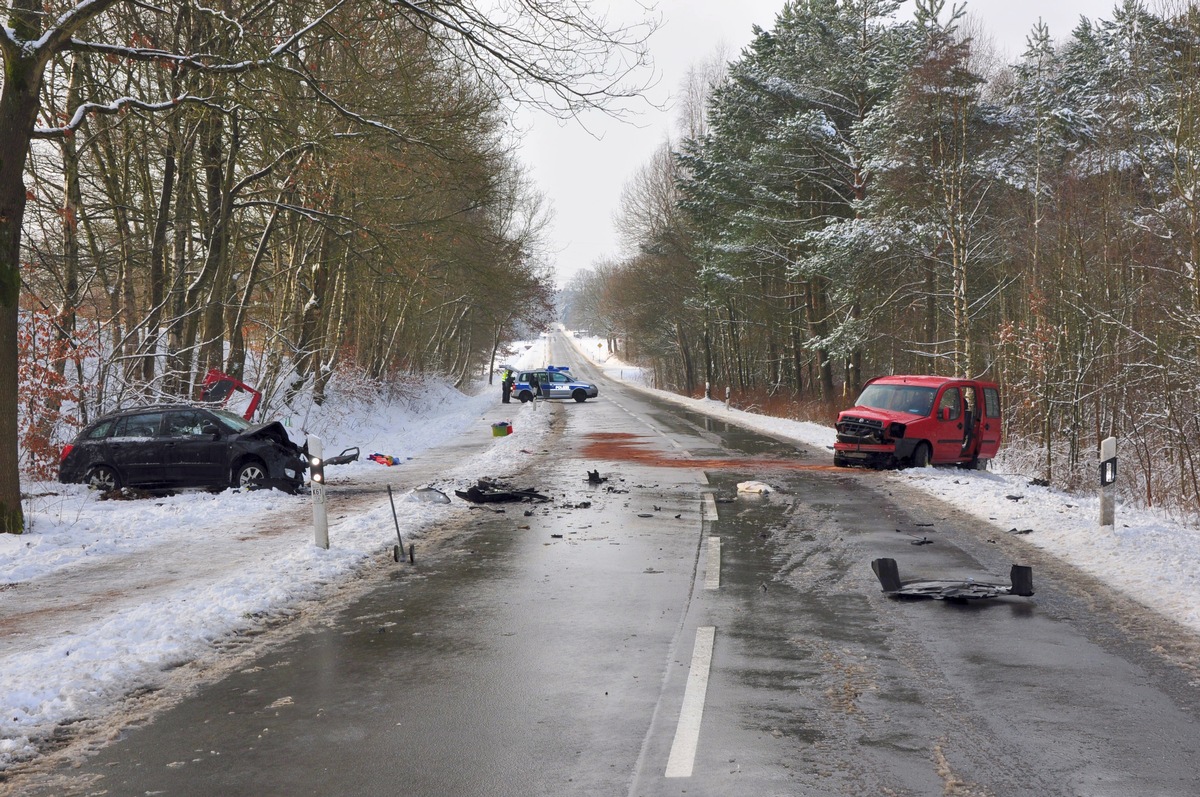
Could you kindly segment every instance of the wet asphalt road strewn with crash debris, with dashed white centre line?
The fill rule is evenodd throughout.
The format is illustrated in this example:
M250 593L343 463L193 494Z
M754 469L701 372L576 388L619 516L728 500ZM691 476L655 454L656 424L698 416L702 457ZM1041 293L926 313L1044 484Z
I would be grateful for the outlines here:
M556 438L511 474L552 502L475 510L19 793L1200 793L1183 631L883 474L577 371L600 397L539 406ZM1037 594L895 601L878 556L992 580L1020 558Z

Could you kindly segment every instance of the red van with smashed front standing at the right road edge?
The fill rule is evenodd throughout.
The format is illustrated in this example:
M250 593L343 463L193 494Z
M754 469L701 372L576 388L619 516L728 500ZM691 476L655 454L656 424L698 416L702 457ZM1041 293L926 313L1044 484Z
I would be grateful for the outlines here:
M984 469L1000 450L1000 386L978 379L876 377L838 415L836 466L960 465Z

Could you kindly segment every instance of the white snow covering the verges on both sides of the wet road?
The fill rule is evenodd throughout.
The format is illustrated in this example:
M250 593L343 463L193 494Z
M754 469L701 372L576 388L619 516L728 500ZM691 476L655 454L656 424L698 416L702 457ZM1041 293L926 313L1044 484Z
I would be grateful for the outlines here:
M608 356L602 341L572 340L608 377L647 389L640 370ZM517 349L514 365L545 365L544 341ZM103 713L162 673L212 657L222 642L289 616L390 555L395 526L386 496L379 497L385 484L401 484L390 477L406 475L409 487L427 479L446 487L503 475L520 448L536 447L547 433L548 413L505 407L497 391L493 385L464 396L430 384L420 401L343 397L293 419L293 435L319 433L326 454L359 445L364 457L389 454L401 462L390 469L364 459L329 471L335 486L344 479L379 487L354 513L330 519L329 550L312 541L304 496L197 491L98 502L78 485L26 485L40 496L26 504L31 531L0 535L0 771L35 755L59 724ZM833 443L826 426L654 392L776 437L818 448ZM491 438L490 425L500 419L518 433ZM456 448L463 439L473 444ZM444 450L451 454L439 459ZM418 468L431 475L419 478ZM1116 526L1102 531L1094 497L1031 486L1026 477L925 468L886 478L1001 528L1032 529L1022 537L1028 544L1200 633L1196 528L1118 508ZM406 544L464 511L458 503L414 502L407 487L396 498Z

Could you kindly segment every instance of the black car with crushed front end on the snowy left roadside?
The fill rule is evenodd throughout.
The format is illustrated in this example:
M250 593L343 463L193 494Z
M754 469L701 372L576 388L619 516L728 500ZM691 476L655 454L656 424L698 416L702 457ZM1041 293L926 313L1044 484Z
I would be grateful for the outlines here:
M304 484L304 450L278 421L223 409L138 407L89 424L62 448L59 481L120 487L277 487Z

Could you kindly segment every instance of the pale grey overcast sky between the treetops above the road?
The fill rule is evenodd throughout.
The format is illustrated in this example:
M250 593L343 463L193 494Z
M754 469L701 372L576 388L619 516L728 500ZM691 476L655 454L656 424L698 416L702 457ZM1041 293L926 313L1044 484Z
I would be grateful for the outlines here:
M660 74L654 102L670 103L688 70L710 60L722 47L734 59L750 41L751 26L769 29L782 5L782 0L659 0L662 25L650 40ZM967 10L979 18L996 48L1010 56L1007 60L1013 60L1025 49L1025 36L1039 17L1052 37L1063 38L1081 14L1108 19L1114 5L1116 0L971 0ZM522 160L553 209L550 239L560 284L596 260L620 254L612 218L622 188L674 134L674 118L672 108L646 107L632 122L589 116L586 122L594 136L578 122L527 118L530 127L523 137Z

